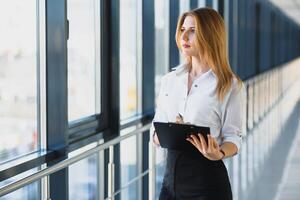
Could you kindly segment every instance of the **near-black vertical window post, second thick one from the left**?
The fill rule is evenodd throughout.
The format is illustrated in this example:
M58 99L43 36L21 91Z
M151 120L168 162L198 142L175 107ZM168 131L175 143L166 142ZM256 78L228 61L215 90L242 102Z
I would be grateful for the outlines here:
M102 61L104 62L104 69L107 74L105 80L108 84L103 84L106 87L108 93L108 99L106 105L109 109L107 112L107 124L109 129L104 131L103 139L107 142L117 136L120 133L120 59L119 59L119 16L120 16L120 2L119 0L101 1L102 6L102 30L105 34L102 35L102 45L105 49L101 52ZM102 101L103 102L103 101ZM112 152L114 153L114 188L118 190L120 188L120 145L114 145ZM104 150L104 171L109 171L110 164L109 149ZM109 195L109 175L105 173L104 177L104 197Z

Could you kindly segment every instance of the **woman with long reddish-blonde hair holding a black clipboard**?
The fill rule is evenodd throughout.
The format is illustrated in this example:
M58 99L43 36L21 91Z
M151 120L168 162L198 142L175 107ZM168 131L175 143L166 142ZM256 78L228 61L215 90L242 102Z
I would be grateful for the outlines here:
M245 89L228 63L224 21L210 8L186 12L176 42L186 63L162 78L153 121L208 126L211 136L207 143L200 133L187 138L195 153L168 150L160 199L230 200L222 159L240 149Z

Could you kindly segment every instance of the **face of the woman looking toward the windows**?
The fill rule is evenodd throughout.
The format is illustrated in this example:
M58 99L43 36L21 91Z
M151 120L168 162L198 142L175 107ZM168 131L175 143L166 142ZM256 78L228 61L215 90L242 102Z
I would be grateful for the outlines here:
M181 27L181 49L185 56L198 56L199 51L195 47L195 22L192 16L187 16Z

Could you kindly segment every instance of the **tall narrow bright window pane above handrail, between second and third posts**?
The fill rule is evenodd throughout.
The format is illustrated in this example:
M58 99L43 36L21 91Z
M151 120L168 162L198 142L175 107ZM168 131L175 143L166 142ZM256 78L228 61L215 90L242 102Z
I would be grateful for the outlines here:
M120 1L120 116L137 114L137 1Z

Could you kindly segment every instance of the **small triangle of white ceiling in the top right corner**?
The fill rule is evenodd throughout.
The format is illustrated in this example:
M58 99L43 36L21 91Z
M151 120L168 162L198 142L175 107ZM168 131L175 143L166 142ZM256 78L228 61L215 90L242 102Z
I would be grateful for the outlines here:
M269 0L300 25L300 0Z

